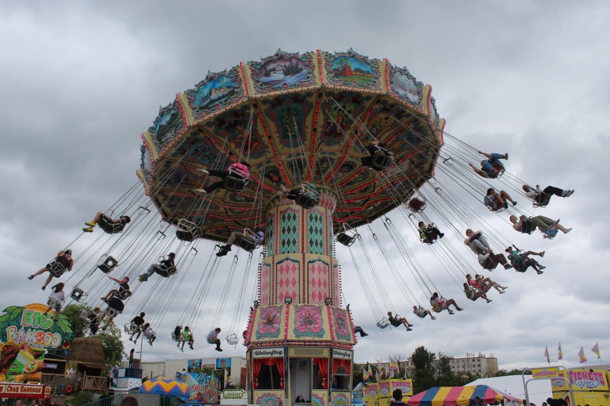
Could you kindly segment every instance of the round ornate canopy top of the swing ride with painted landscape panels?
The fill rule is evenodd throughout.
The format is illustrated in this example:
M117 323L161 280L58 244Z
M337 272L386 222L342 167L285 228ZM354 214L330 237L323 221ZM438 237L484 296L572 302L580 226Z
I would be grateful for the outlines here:
M347 52L278 50L240 63L176 95L142 134L138 177L163 219L185 219L201 237L226 240L264 223L279 184L313 183L336 195L334 229L358 226L411 196L434 171L445 120L431 86L388 60ZM373 141L393 166L365 170ZM197 197L197 169L248 161L249 189Z

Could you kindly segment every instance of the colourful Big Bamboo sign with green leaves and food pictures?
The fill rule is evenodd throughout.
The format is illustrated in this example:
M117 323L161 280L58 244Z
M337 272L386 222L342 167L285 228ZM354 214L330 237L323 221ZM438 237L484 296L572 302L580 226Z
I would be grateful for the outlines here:
M0 382L40 382L45 353L59 349L72 329L68 318L43 314L46 304L9 306L0 316Z

